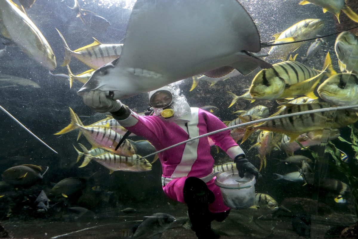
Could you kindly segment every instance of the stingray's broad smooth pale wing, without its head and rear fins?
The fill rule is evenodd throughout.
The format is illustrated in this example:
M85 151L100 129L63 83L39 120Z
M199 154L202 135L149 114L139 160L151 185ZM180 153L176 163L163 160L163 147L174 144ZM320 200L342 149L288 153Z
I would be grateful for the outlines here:
M237 0L138 0L118 64L184 79L260 49L255 23Z

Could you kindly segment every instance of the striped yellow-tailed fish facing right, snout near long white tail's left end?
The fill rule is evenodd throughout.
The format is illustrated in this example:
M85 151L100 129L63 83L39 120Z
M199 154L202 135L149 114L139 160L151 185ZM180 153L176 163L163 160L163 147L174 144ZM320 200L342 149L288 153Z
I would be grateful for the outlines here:
M148 162L148 160L141 158L141 156L136 154L132 155L132 157L125 157L107 152L101 155L93 156L86 147L83 145L80 146L84 153L84 160L82 165L79 167L87 166L87 164L93 159L109 169L110 174L114 171L145 172L152 169L152 165Z

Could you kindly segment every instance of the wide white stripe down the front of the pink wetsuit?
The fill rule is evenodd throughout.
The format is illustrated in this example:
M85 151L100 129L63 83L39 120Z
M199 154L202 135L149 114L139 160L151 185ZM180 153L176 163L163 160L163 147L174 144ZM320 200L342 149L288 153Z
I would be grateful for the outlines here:
M192 120L188 122L189 138L199 136L199 108L190 108L192 111ZM198 144L199 140L193 140L185 143L182 160L176 166L173 174L170 176L171 179L188 176L192 166L198 157Z

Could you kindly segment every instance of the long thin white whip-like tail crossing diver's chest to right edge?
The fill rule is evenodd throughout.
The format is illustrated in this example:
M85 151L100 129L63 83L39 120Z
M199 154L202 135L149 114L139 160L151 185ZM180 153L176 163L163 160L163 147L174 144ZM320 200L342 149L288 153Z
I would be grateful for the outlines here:
M247 123L242 123L240 125L234 125L234 126L222 128L221 130L216 130L216 131L213 131L213 132L210 132L210 133L205 133L204 135L200 135L200 136L197 136L197 137L194 137L194 138L190 138L189 140L185 140L183 142L176 143L175 145L163 148L162 150L156 151L154 153L150 153L149 155L146 155L146 156L141 157L141 158L150 157L152 155L155 155L156 153L160 153L160 152L163 152L163 151L168 150L170 148L174 148L174 147L176 147L178 145L182 145L183 143L187 143L187 142L192 141L192 140L197 140L198 138L213 135L214 133L219 133L219 132L222 132L222 131L231 130L233 128L238 128L238 127L242 127L242 126L246 126L246 125L253 125L255 123L261 123L261 122L265 122L265 121L269 121L269 120L273 120L273 119L280 119L280 118L286 118L286 117L290 117L290 116L297 116L297 115L301 115L301 114L318 113L318 112L324 112L324 111L337 111L338 109L350 109L350 108L357 108L357 107L358 107L358 104L354 104L354 105L350 105L350 106L337 106L337 107L313 109L313 110L309 110L309 111L296 112L296 113L291 113L291 114L284 114L284 115L279 115L279 116L268 117L268 118L264 118L264 119L258 119L258 120L250 121L250 122L247 122Z

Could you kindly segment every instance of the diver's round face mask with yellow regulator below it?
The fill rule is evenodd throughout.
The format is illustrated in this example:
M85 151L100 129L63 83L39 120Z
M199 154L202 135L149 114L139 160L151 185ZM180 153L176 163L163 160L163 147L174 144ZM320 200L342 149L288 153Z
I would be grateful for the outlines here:
M167 90L159 90L155 92L149 99L150 106L154 108L162 108L160 115L163 118L171 118L174 116L174 111L171 109L173 104L173 94Z

